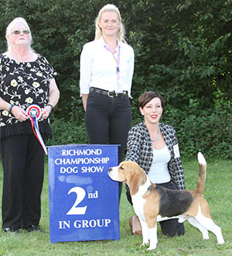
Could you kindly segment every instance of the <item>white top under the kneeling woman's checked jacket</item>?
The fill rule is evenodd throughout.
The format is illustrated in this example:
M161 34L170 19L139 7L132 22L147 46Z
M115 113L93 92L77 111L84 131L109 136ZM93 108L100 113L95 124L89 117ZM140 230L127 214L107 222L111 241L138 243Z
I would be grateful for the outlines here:
M148 172L148 178L152 183L159 184L170 182L171 176L168 170L170 159L171 155L166 145L160 150L153 148L152 167Z

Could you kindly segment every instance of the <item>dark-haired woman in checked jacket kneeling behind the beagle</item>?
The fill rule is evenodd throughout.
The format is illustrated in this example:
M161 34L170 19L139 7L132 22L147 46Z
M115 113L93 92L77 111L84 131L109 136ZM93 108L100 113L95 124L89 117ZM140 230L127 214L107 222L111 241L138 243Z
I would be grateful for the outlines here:
M179 155L176 131L172 126L159 123L164 109L162 96L145 92L138 99L144 121L133 126L128 133L125 161L135 161L144 169L152 183L167 189L185 189L183 165ZM131 195L127 187L128 201ZM132 204L132 202L131 202ZM183 223L177 219L160 222L166 236L183 235Z

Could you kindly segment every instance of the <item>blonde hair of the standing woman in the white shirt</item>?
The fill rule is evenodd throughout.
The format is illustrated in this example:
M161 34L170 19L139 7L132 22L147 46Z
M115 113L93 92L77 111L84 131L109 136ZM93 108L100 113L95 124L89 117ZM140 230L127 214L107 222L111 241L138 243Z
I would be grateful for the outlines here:
M99 11L97 18L95 19L95 40L99 39L102 35L101 27L98 25L98 22L101 19L101 15L103 12L116 12L118 14L119 22L121 22L121 15L119 9L115 5L107 4L102 7ZM117 37L119 41L125 42L125 27L121 22L121 26L118 29Z

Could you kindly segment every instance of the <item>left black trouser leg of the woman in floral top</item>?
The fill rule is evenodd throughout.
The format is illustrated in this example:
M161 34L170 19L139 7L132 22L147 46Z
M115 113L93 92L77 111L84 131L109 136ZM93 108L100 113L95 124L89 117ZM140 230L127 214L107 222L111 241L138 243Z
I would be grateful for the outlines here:
M5 137L1 140L3 167L2 228L21 228L26 141L26 135Z

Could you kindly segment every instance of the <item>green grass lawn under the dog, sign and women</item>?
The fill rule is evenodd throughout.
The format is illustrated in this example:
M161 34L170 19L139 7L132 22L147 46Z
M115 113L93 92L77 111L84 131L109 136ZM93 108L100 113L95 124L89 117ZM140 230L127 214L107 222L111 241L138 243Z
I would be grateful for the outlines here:
M63 242L51 244L49 241L49 185L46 164L46 175L42 194L42 217L40 226L46 232L5 234L0 230L0 255L80 255L80 256L138 256L138 255L232 255L232 161L206 159L207 177L204 197L210 205L211 215L223 233L225 244L218 246L216 237L210 233L210 240L203 240L199 230L185 223L186 234L183 237L167 238L158 225L157 248L146 251L140 248L142 237L131 235L128 220L133 209L125 196L125 188L120 204L120 240L100 240L85 242ZM198 163L194 159L183 159L186 176L186 189L195 189L198 178ZM0 169L1 202L2 202L2 167ZM1 223L2 227L2 223Z

